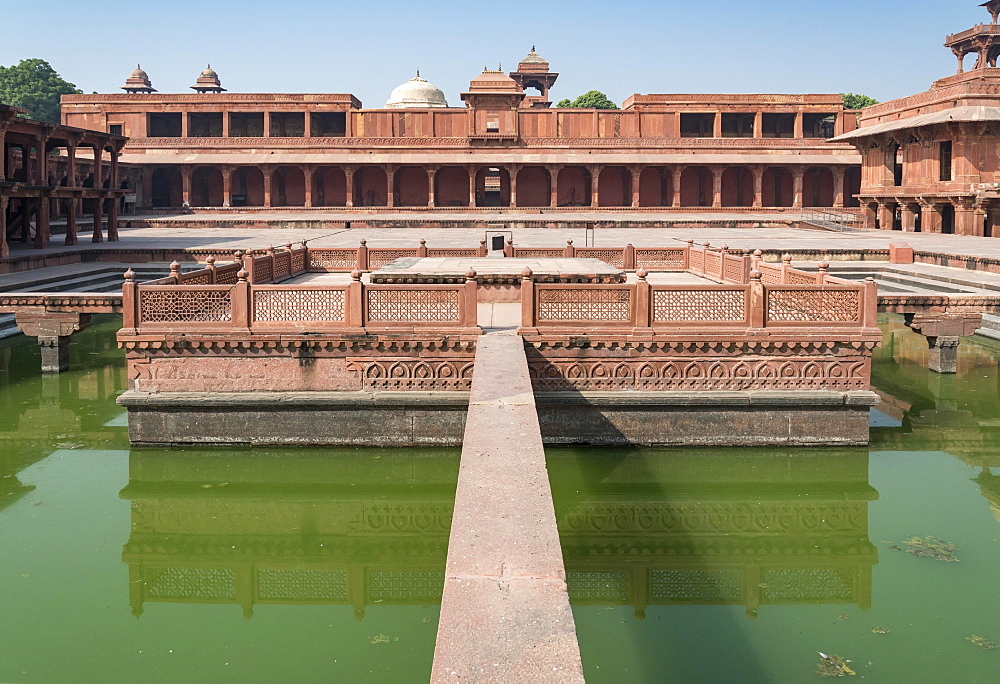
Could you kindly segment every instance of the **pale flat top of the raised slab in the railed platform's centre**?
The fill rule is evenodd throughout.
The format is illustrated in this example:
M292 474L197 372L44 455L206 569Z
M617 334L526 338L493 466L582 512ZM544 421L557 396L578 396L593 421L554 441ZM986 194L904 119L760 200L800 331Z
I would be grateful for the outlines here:
M625 272L600 259L518 257L402 257L372 272L373 283L464 282L469 269L480 282L513 282L525 268L542 282L624 282Z

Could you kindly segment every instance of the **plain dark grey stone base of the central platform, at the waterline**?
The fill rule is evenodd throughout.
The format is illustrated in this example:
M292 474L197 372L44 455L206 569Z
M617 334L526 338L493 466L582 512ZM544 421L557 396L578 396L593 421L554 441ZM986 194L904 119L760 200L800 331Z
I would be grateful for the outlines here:
M545 444L868 444L873 392L536 394ZM466 392L126 392L134 446L459 446ZM497 426L503 429L502 425Z

